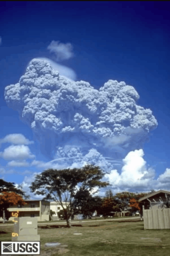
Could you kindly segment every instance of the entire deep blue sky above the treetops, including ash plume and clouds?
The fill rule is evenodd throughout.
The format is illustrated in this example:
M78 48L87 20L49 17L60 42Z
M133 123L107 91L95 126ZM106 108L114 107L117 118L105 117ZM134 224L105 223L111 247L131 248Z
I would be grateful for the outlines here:
M168 7L0 3L1 179L38 200L35 174L92 163L113 194L170 189Z

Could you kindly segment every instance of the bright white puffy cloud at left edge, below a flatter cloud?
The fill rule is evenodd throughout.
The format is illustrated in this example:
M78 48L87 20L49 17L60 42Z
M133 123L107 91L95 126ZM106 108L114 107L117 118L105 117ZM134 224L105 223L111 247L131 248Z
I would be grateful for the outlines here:
M24 145L11 145L0 152L0 157L5 160L23 160L23 159L34 159L35 156L31 154L28 146Z

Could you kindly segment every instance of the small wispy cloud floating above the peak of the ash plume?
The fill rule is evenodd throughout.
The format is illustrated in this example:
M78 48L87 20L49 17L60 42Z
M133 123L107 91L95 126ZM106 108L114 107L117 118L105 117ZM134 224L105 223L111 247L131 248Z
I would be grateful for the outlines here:
M63 61L66 59L70 59L74 56L74 53L72 53L73 46L71 43L59 43L59 41L52 41L47 49L54 53L56 56L56 61Z

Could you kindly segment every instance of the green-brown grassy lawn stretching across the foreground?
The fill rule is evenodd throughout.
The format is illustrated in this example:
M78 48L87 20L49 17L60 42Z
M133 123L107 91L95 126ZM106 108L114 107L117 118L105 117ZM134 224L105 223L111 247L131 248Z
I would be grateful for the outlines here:
M70 229L64 224L45 224L38 227L41 256L167 256L170 252L170 230L144 230L139 219L87 221L74 223ZM11 241L12 232L13 226L0 227L0 240ZM67 247L48 248L44 246L47 242Z

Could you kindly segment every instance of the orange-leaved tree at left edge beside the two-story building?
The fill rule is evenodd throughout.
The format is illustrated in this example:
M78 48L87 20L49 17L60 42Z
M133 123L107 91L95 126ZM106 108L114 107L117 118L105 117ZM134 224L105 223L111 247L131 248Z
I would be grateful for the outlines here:
M9 220L11 217L11 212L7 210L12 205L25 205L28 204L24 202L22 197L20 195L17 195L15 192L1 192L0 195L0 217L2 217L3 214L3 223L5 223L5 218Z

